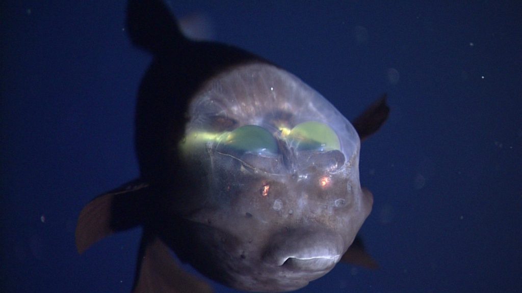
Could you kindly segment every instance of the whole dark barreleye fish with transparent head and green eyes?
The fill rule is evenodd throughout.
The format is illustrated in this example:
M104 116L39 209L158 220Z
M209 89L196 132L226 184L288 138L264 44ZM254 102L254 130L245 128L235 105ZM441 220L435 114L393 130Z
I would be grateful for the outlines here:
M84 207L80 253L143 227L133 292L212 291L170 251L245 291L299 289L341 260L376 266L354 239L373 203L360 141L386 120L385 97L352 125L277 65L185 38L162 1L129 1L126 31L153 55L136 109L140 177Z

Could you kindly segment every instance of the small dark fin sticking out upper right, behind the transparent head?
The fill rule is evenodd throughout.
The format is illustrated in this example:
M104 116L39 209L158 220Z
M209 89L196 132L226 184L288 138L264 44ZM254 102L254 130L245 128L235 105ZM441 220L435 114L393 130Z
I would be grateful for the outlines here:
M353 120L353 127L357 130L361 142L373 135L383 124L390 112L386 104L386 94L371 104L366 110Z

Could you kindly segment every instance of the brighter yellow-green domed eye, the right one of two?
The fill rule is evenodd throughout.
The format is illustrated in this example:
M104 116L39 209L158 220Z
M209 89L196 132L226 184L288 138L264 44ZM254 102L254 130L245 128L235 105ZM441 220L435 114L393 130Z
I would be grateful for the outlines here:
M328 125L316 121L296 125L287 136L292 148L298 151L340 150L341 144L335 131Z

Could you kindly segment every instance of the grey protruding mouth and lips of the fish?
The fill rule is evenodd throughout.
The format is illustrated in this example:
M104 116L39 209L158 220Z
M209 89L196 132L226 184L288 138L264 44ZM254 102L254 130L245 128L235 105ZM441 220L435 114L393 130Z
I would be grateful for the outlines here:
M344 251L339 234L328 231L291 230L270 239L263 260L293 271L329 271Z

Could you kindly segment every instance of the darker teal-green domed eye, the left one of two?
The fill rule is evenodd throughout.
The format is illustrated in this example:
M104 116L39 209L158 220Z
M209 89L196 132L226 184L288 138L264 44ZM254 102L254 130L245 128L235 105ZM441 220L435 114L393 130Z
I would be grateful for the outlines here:
M217 139L219 146L242 153L277 153L277 142L268 130L257 125L245 125L225 132Z

